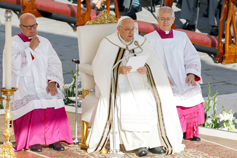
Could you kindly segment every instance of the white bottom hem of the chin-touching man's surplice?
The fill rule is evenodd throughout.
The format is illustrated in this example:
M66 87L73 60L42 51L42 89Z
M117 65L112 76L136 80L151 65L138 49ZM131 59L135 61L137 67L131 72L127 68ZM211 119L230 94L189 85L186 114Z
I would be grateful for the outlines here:
M29 102L28 104L26 104L25 106L21 107L20 109L11 111L12 120L16 120L34 109L47 109L47 108L59 109L64 106L65 105L64 105L63 99L33 100Z

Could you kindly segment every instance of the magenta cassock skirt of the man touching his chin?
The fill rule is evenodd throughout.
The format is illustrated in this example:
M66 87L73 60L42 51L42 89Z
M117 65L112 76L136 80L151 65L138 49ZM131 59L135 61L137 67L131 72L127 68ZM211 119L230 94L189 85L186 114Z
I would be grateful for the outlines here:
M31 145L49 145L64 141L72 144L72 134L65 108L35 109L13 121L15 151Z

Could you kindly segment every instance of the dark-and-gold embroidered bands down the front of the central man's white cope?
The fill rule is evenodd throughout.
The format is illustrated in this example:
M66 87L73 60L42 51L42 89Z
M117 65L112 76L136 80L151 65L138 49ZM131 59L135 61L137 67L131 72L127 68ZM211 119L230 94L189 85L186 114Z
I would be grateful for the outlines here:
M115 65L119 60L121 60L124 57L126 49L124 48L119 48L116 59L114 61ZM134 49L131 50L130 52L134 53ZM110 98L109 98L109 108L108 108L108 116L107 116L107 121L103 130L103 134L102 137L95 149L95 153L100 152L103 147L106 145L108 138L109 138L109 134L111 132L112 129L112 121L113 121L113 111L112 111L112 102L114 103L114 107L116 105L116 95L117 95L117 87L118 87L118 79L119 79L119 67L121 65L121 62L114 68L113 70L113 75L114 75L114 81L113 81L113 85L110 85ZM161 102L160 102L160 97L155 85L155 81L151 72L151 69L149 67L148 64L145 65L145 67L147 68L147 79L148 79L148 83L151 86L151 90L152 90L152 94L155 98L156 101L156 107L157 107L157 119L158 119L158 130L159 133L161 135L161 138L165 144L165 149L166 149L166 154L167 155L171 155L173 152L173 148L172 145L169 141L169 138L167 137L167 133L166 133L166 128L165 128L165 122L164 122L164 117L163 117L163 111L162 111L162 106L161 106ZM112 84L112 82L111 82ZM112 86L113 86L113 94L114 96L111 96L111 92L112 92ZM113 99L113 100L112 100Z

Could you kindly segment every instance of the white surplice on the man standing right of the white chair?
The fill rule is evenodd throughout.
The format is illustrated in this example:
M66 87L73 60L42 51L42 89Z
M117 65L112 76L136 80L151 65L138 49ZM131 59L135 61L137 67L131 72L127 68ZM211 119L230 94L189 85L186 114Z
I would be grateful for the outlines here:
M157 31L145 35L153 46L164 66L167 76L174 83L172 91L177 106L192 107L202 103L200 84L200 57L188 36L173 30L173 38L162 39ZM187 74L192 73L200 78L197 86L188 86Z

